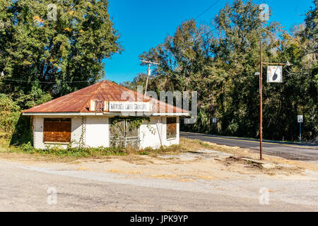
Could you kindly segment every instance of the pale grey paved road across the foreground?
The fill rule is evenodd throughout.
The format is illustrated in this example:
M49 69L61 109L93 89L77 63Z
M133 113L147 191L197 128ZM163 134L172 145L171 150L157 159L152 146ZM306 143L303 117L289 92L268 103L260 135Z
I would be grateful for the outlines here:
M211 182L205 192L192 189L189 182L183 182L180 189L167 189L171 181L166 187L163 180L151 180L143 186L141 182L120 178L112 182L107 173L0 161L0 211L317 211L317 182L257 181L255 188L252 182L223 182L224 188L241 188L237 195L218 193L221 188L213 187L217 182ZM273 200L270 194L269 203L264 205L259 202L261 186L276 186L277 192L289 190L283 191L285 198ZM307 189L313 193L303 194Z

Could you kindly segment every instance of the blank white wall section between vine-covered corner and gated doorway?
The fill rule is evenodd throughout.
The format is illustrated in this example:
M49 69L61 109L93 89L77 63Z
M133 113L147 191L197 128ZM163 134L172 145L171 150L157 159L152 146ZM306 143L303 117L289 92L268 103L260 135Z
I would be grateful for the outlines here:
M85 144L92 148L110 146L110 125L108 117L86 117Z

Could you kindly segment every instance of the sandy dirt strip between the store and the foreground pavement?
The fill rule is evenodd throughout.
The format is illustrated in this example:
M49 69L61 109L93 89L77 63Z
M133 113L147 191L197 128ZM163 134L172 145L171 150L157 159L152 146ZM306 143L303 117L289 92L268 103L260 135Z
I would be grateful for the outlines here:
M318 179L318 167L314 163L285 160L281 157L259 156L252 150L227 147L181 138L185 150L181 153L158 155L129 154L105 157L52 157L25 153L0 153L0 159L41 165L121 174L124 177L171 179L184 182L195 180L227 180L255 177L261 179ZM265 167L266 166L266 167Z

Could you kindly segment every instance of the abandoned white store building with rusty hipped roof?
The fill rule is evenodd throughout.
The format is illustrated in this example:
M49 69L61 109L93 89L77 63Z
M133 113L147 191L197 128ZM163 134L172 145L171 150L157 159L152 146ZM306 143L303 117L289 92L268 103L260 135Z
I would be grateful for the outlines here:
M33 145L157 148L179 143L179 117L189 112L100 81L23 112L33 121Z

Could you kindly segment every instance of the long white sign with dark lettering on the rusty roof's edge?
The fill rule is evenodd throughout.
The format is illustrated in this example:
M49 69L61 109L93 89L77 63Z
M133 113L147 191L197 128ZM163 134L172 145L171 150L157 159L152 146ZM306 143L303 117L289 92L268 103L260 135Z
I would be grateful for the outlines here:
M110 112L150 112L150 102L110 102Z

